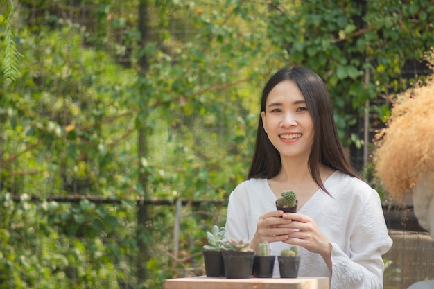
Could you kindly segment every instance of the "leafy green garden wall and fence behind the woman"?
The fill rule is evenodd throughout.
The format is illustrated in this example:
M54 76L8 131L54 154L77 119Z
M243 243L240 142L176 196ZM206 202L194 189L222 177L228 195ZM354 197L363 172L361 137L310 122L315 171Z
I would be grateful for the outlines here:
M324 79L351 160L394 208L371 140L396 94L432 73L433 1L0 3L0 288L203 274L205 231L224 225L261 88L284 66ZM393 234L426 260L417 274L389 262L388 288L434 278L434 244L400 210L399 229L417 232Z

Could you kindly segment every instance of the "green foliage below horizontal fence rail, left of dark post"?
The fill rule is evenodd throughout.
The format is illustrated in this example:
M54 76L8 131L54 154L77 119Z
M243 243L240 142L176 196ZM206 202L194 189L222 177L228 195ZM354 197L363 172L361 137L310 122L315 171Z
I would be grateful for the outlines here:
M10 193L0 203L0 288L96 288L130 278L128 270L113 274L134 252L132 224L118 220L122 207L35 204L26 194L15 202Z

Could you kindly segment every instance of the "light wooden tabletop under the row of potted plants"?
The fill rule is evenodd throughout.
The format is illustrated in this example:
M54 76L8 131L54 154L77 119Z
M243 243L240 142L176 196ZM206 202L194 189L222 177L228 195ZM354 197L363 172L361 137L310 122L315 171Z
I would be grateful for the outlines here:
M328 277L226 279L206 276L167 279L164 289L329 289Z

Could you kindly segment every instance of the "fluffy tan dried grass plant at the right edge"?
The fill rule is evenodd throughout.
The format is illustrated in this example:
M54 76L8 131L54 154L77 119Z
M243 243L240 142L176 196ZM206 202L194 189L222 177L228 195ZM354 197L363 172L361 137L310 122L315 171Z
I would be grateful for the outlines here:
M434 64L433 53L428 60ZM408 89L392 107L386 128L374 139L376 177L402 200L417 179L434 171L434 78ZM434 181L434 180L433 180Z

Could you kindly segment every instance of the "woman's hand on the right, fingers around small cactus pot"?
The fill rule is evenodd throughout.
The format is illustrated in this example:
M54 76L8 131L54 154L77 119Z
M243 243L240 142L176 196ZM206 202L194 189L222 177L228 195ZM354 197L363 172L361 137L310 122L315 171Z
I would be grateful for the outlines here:
M299 245L320 254L331 271L331 241L322 234L315 221L302 213L284 213L282 219L290 221L284 225L284 229L293 229L288 238L283 240L284 243Z

